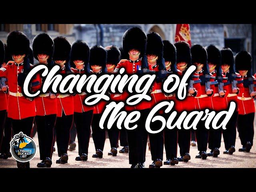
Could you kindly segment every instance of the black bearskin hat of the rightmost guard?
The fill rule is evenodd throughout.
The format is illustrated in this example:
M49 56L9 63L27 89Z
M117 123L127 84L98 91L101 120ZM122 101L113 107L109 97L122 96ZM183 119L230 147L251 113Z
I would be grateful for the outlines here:
M240 51L235 56L236 70L248 70L252 68L252 56L247 51Z

